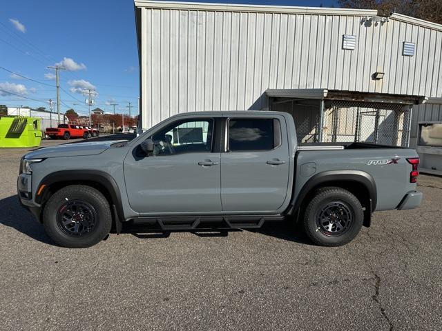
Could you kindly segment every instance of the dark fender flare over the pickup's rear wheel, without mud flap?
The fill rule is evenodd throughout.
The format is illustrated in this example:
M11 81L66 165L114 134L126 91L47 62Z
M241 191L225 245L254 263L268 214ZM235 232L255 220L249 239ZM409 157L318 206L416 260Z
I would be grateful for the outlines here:
M290 205L293 207L290 208L291 212L300 208L302 201L311 190L329 181L356 182L364 185L365 188L367 188L369 194L368 198L371 201L371 212L374 212L376 209L376 182L371 174L361 170L328 170L312 176L307 183L302 186L299 194L296 197L292 197Z

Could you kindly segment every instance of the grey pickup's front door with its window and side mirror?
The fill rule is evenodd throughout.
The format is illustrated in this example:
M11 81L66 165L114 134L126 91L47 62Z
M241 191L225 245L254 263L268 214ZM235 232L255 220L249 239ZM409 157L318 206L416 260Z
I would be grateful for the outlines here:
M177 120L155 132L147 157L137 146L124 161L131 207L142 214L220 212L220 152L212 152L214 120Z

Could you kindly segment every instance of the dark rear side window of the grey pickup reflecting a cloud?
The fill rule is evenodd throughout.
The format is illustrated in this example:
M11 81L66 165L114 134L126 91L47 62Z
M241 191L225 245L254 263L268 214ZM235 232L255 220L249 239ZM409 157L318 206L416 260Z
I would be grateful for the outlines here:
M230 119L229 151L272 150L280 143L277 119Z

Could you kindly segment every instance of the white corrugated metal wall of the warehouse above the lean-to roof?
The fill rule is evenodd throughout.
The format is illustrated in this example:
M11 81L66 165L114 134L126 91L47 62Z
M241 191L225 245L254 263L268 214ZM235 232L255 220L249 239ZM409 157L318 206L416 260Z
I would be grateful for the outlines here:
M442 97L442 32L395 15L141 10L143 128L178 112L262 109L267 88ZM342 49L343 34L356 35L355 50Z

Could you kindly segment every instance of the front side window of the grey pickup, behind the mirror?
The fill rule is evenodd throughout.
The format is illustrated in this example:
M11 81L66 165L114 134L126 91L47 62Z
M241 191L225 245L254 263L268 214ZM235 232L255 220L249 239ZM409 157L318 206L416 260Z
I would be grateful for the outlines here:
M211 152L213 119L187 119L153 134L153 155Z

